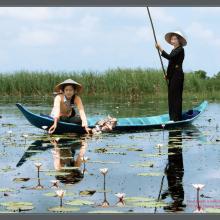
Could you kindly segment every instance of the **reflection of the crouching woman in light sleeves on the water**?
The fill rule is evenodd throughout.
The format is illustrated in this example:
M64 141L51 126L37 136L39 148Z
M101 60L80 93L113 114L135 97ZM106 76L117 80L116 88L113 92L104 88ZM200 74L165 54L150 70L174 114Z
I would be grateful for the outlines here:
M65 140L64 140L65 141ZM84 170L81 171L81 164L87 148L86 139L81 139L79 142L73 142L71 145L62 144L62 140L52 139L51 143L54 168L60 172L56 175L56 179L62 183L75 184L81 181L84 177ZM79 149L78 155L76 150ZM63 173L66 172L66 175Z

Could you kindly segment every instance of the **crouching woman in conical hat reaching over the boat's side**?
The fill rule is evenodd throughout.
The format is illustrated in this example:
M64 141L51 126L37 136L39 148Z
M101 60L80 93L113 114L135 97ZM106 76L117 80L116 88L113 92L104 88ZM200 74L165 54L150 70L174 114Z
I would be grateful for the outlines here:
M56 97L54 98L54 106L51 116L54 118L54 123L49 129L52 134L56 128L59 120L67 123L80 124L89 133L88 123L82 100L79 93L82 90L82 85L72 79L67 79L64 82L55 86ZM76 115L74 105L79 110L79 116Z

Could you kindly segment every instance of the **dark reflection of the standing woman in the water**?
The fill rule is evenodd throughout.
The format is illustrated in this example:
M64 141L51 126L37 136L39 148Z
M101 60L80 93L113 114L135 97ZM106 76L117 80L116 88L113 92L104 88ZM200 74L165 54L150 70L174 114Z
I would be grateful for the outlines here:
M183 155L182 155L182 131L169 131L168 142L168 166L166 168L168 190L165 191L161 198L165 199L168 195L172 202L169 206L164 207L166 211L183 211L186 207L184 201L183 189Z

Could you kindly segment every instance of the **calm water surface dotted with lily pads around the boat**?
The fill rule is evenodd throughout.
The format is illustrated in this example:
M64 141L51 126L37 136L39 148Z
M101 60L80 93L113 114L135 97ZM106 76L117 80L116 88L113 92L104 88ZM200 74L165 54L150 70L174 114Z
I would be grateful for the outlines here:
M25 100L20 101L35 113L51 110L51 100ZM87 117L167 112L166 101L151 99L85 99L84 103ZM186 101L184 109L198 103ZM62 212L83 213L192 213L198 209L192 184L205 185L199 192L200 210L219 211L219 110L219 103L209 103L192 126L169 131L49 136L31 126L13 100L2 100L0 212L50 213L58 207ZM88 157L85 163L83 156ZM35 163L39 162L42 166L38 175ZM100 168L108 168L105 184ZM61 210L51 180L59 180L59 188L66 190ZM124 204L116 193L126 194ZM19 209L18 204L8 202L24 204Z

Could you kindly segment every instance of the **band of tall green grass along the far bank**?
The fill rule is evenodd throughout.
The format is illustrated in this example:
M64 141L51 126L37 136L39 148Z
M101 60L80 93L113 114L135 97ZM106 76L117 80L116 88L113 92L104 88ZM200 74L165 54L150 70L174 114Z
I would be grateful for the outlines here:
M56 84L72 78L83 85L84 95L166 96L167 86L161 70L109 69L97 72L28 72L0 74L1 96L51 96ZM201 79L185 74L184 94L219 99L220 78Z

